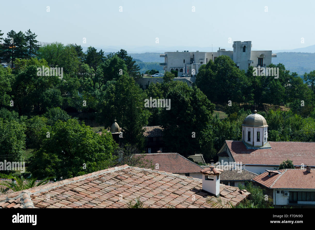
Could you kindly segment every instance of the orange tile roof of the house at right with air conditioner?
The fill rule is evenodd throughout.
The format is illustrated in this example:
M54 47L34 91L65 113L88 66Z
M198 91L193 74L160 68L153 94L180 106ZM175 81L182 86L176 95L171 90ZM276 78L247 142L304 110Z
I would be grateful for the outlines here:
M307 173L306 169L281 169L280 174L262 173L253 181L270 189L315 189L315 169Z

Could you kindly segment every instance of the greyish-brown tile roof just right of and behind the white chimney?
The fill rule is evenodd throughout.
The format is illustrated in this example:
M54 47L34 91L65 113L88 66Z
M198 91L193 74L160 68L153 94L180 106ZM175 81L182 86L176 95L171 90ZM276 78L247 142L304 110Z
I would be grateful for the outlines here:
M210 166L204 165L201 167L207 168ZM233 165L216 165L215 168L223 169L223 172L220 174L220 181L250 181L258 175L245 169L234 168Z

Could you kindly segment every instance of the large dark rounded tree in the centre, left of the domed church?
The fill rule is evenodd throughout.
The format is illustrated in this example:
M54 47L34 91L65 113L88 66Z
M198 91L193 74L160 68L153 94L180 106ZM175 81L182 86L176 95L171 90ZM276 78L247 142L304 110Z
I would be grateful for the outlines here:
M166 84L169 89L165 100L170 100L170 109L162 108L161 124L166 148L187 157L200 151L203 131L211 118L215 105L196 86L189 87L180 81Z

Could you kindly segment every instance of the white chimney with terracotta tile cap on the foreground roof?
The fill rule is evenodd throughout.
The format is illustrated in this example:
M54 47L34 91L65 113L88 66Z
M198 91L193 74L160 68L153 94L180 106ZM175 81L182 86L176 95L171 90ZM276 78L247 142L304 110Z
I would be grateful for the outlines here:
M202 177L202 189L215 195L220 196L220 173L222 170L210 166L200 171L203 174ZM209 178L213 176L213 178Z

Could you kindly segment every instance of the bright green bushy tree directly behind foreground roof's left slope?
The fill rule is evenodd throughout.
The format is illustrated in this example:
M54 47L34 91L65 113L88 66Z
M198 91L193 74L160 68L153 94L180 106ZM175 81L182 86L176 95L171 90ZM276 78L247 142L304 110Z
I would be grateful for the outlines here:
M96 134L76 119L57 121L50 138L31 157L29 170L34 175L72 178L105 169L117 148L110 133Z

